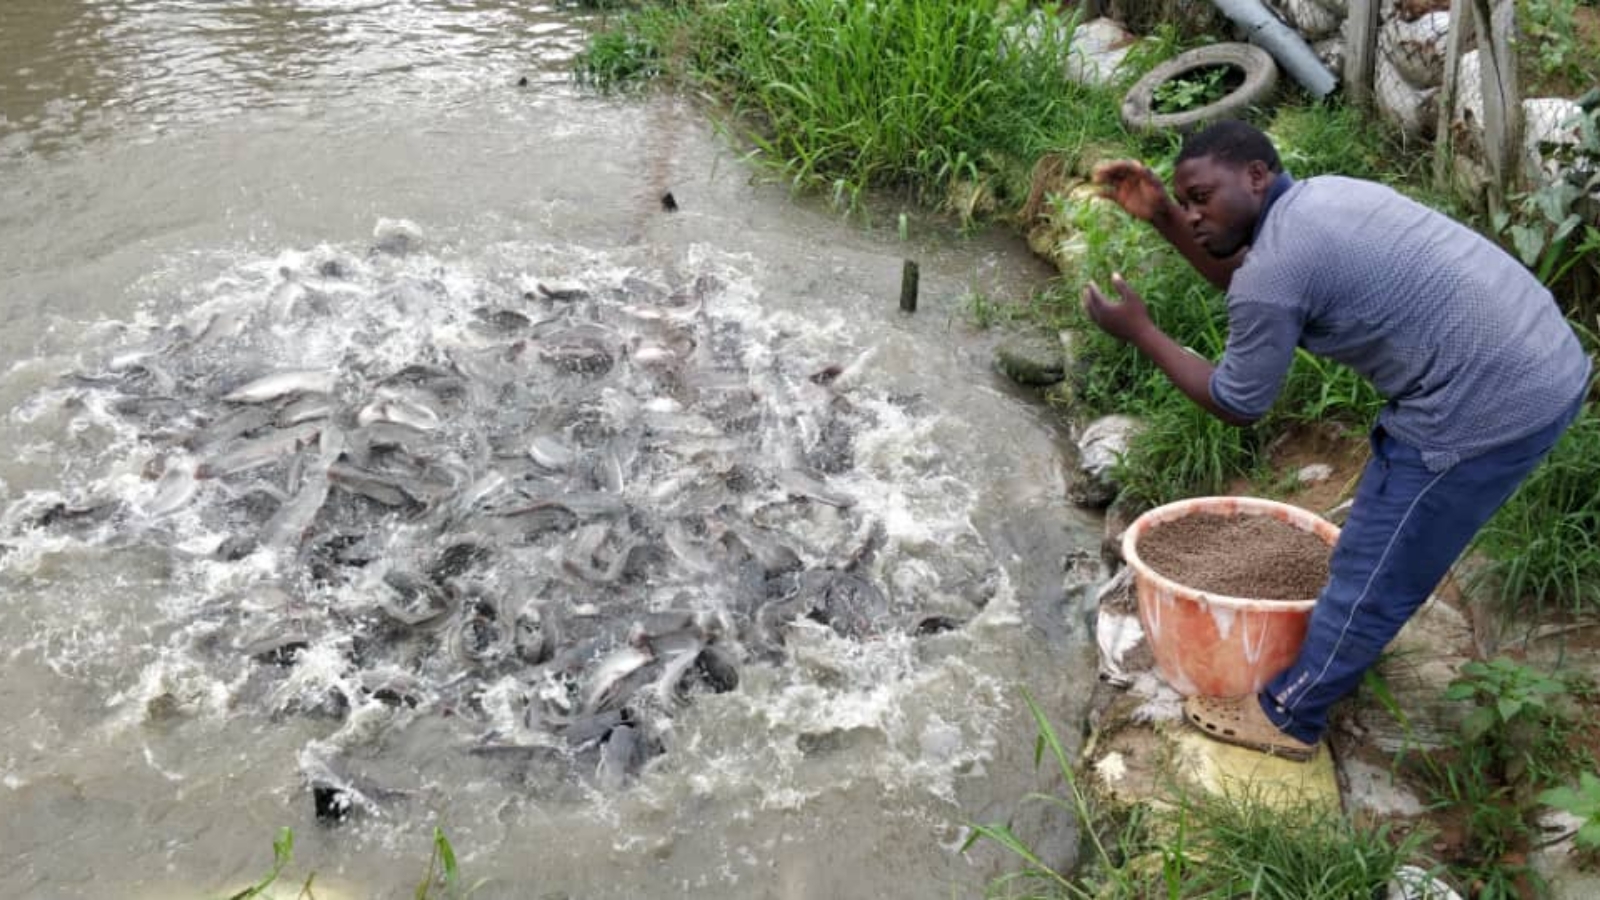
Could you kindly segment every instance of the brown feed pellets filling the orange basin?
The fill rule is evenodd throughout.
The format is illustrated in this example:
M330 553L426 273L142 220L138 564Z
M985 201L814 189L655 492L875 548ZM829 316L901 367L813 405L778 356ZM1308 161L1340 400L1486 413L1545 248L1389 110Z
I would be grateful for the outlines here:
M1331 549L1270 516L1211 512L1162 522L1139 538L1139 559L1197 591L1309 601L1328 583Z

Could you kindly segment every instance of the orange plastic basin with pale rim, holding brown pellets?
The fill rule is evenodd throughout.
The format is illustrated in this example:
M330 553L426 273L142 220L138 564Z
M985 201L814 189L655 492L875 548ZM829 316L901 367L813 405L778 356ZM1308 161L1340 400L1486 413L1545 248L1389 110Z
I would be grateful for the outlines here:
M1133 572L1139 625L1155 653L1155 669L1184 697L1254 693L1286 669L1306 639L1317 597L1267 601L1197 591L1139 559L1146 532L1186 516L1272 516L1310 532L1331 548L1339 528L1315 512L1256 496L1197 496L1157 506L1128 525L1122 556ZM1243 552L1246 548L1238 548Z

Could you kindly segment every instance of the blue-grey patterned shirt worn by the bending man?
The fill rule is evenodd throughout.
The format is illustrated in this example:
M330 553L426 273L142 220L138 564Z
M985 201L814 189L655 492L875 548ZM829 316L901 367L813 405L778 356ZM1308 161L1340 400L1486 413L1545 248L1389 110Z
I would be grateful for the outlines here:
M1278 176L1227 291L1211 399L1254 420L1294 348L1349 365L1442 471L1555 421L1590 362L1550 291L1453 218L1371 181Z

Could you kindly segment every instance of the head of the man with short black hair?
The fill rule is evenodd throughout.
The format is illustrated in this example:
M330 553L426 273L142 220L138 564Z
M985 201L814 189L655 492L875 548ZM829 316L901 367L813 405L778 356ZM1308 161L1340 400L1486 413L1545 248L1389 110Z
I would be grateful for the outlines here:
M1266 135L1226 120L1184 141L1173 192L1195 240L1213 256L1232 256L1250 240L1280 171L1283 163Z

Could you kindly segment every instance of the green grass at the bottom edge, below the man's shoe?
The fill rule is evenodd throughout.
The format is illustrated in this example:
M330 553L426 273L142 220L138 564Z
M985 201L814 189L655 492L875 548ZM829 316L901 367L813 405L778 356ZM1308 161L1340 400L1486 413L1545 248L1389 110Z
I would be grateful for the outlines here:
M1024 695L1038 737L1034 762L1053 764L1067 796L1032 794L1078 822L1088 863L1059 873L1003 823L971 825L978 841L992 841L1022 862L997 881L1005 897L1072 900L1144 900L1149 897L1253 897L1259 900L1349 900L1381 895L1395 871L1411 860L1427 834L1397 836L1387 828L1357 828L1341 815L1282 810L1251 794L1197 796L1174 793L1176 815L1157 826L1136 807L1114 820L1094 804L1054 727ZM965 847L963 847L965 849Z

